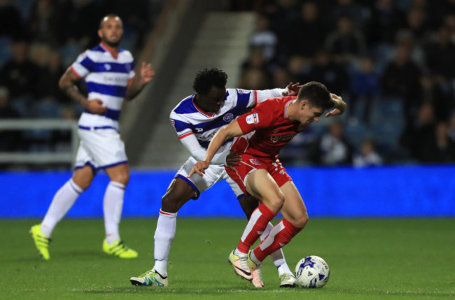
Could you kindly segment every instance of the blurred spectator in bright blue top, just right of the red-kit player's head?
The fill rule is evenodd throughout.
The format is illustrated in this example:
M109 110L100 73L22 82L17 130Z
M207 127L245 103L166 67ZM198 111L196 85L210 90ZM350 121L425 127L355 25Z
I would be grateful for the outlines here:
M356 120L356 103L358 103L358 100L363 100L364 107L361 119L364 124L370 124L372 101L381 94L379 74L374 71L374 63L370 57L363 57L360 60L358 69L353 71L351 77L351 91L349 117Z

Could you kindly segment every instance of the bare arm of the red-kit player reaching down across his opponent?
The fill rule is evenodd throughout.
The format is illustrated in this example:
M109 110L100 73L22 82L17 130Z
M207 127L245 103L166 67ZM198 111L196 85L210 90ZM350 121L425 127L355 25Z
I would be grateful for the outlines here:
M191 170L188 178L190 178L194 173L198 173L200 176L204 176L205 169L209 167L211 159L214 158L214 155L221 148L221 145L223 145L223 143L229 138L235 138L236 136L241 136L242 134L244 134L244 132L241 131L237 120L234 120L234 122L228 124L228 126L220 129L220 131L215 134L214 138L211 139L204 160L197 162L193 166L193 170Z

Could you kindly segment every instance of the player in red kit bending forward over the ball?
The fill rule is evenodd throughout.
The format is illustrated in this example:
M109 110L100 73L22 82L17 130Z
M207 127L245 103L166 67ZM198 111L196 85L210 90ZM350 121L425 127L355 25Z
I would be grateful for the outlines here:
M330 94L325 85L310 82L302 86L297 97L273 98L259 103L250 113L223 127L211 140L204 160L197 162L193 173L203 176L212 157L228 138L255 131L246 139L237 138L231 150L241 155L238 166L226 167L229 176L241 189L260 199L241 236L239 245L230 253L229 261L235 271L250 273L261 268L262 261L275 250L286 245L308 222L307 208L292 178L281 166L279 150L311 122L318 121L324 111L333 108L325 117L341 115L346 103ZM278 212L283 219L252 251L251 245L259 238L267 223ZM241 269L244 272L237 270ZM259 278L262 282L262 278Z

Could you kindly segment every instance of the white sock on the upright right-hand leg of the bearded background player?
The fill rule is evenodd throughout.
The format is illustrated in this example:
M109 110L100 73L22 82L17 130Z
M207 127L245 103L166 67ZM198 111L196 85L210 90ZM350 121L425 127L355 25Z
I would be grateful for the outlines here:
M106 242L112 245L113 241L120 240L118 224L122 216L123 196L125 185L111 181L104 193L103 211L104 227L106 229Z

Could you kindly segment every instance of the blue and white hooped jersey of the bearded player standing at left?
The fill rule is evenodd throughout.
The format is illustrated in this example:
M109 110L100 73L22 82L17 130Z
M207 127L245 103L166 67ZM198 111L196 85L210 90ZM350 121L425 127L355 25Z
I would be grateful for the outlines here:
M130 51L120 49L115 57L103 43L86 50L71 64L71 70L87 83L88 99L101 99L108 109L104 115L85 112L80 116L82 129L118 129L120 109L127 85L134 78L134 59Z

